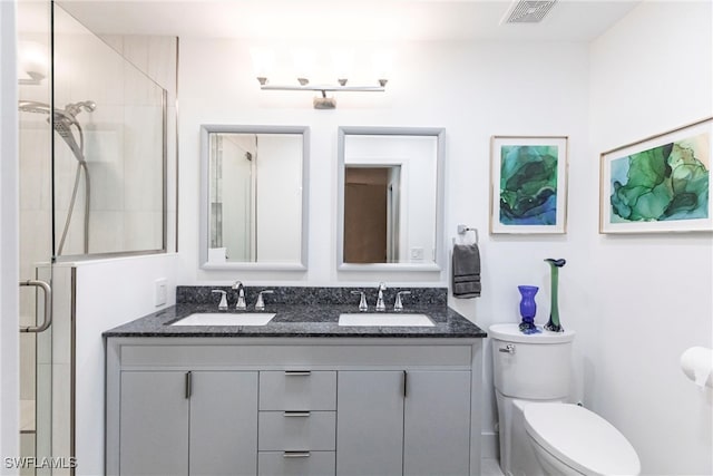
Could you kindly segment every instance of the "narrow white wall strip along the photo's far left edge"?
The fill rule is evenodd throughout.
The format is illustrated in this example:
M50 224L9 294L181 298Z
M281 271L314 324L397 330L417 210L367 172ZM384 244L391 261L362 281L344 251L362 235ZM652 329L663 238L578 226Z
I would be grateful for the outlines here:
M0 2L0 455L19 456L18 122L14 2ZM0 469L2 474L17 470Z

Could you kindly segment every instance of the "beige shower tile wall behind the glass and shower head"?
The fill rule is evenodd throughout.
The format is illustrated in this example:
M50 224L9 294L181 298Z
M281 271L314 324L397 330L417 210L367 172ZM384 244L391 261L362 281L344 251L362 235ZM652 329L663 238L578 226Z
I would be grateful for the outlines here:
M162 87L140 70L163 65L157 71L166 71L166 77L155 80L175 90L176 39L111 37L107 43L71 17L56 17L65 27L55 46L56 105L84 100L97 105L94 111L77 116L85 130L91 182L89 252L158 250L163 244L163 97ZM57 144L55 232L60 236L77 161L69 147ZM79 190L65 255L84 254L84 184Z

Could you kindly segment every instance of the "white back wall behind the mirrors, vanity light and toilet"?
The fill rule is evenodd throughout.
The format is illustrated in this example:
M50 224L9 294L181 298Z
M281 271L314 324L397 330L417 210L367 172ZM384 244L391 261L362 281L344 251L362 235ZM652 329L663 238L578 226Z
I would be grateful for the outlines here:
M519 319L518 284L549 282L545 258L567 258L560 276L565 326L583 301L595 301L589 285L588 246L596 227L583 208L596 203L588 155L588 51L584 43L398 45L393 78L385 94L338 95L335 110L315 110L311 95L261 91L252 77L248 48L235 40L180 40L180 260L182 284L248 285L445 285L447 272L404 274L338 273L338 126L422 126L446 128L446 245L465 223L480 231L482 298L451 305L480 327ZM226 60L229 58L229 60ZM309 270L295 273L198 270L198 157L202 124L274 124L311 127ZM565 236L488 236L489 139L491 135L568 135L570 138L570 232ZM592 191L587 195L579 191ZM538 320L548 312L539 295ZM489 346L484 382L486 454L495 450Z

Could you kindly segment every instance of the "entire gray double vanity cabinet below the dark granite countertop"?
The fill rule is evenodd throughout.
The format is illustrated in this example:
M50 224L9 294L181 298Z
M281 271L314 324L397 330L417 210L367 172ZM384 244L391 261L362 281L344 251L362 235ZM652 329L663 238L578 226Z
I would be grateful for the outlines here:
M480 339L109 338L106 474L475 476Z

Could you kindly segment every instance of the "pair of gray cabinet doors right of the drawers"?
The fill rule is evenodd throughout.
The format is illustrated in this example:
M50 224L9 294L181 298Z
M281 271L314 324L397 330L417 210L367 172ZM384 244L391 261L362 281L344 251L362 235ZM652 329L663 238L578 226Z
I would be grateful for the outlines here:
M342 371L336 474L467 475L470 371Z

